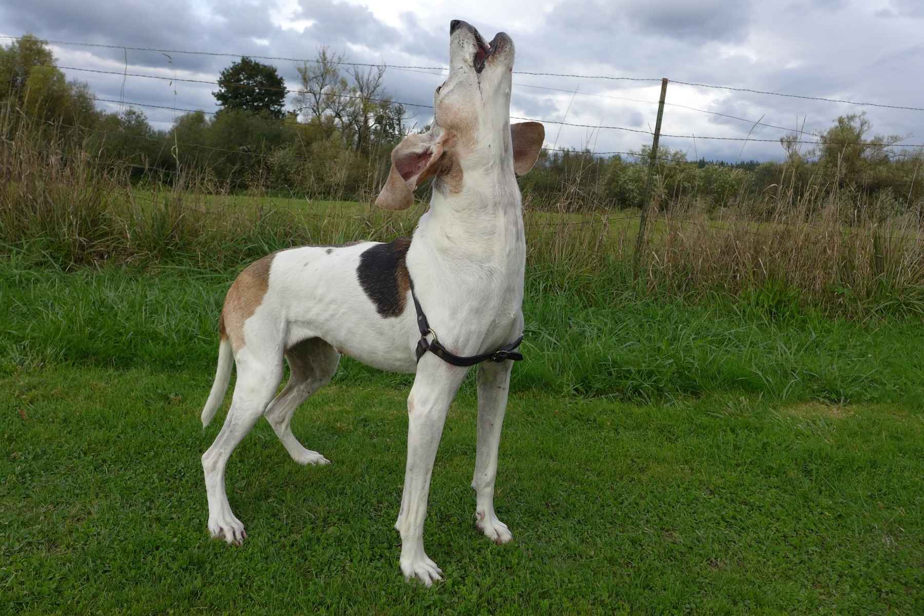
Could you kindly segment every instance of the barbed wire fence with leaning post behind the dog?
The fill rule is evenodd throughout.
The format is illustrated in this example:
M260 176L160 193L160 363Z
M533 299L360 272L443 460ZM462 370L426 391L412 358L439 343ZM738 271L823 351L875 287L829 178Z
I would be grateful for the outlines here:
M0 36L0 39L18 41L18 40L21 40L22 37ZM101 69L101 68L91 68L87 66L66 66L66 65L56 64L56 63L49 64L46 66L55 67L61 71L65 71L66 74L90 73L90 74L97 74L97 75L112 75L122 80L122 86L120 88L120 98L119 99L103 98L103 97L94 96L94 100L97 103L109 103L112 105L118 105L120 109L125 108L125 107L128 107L128 108L138 107L138 108L144 108L144 109L166 110L166 111L172 111L175 115L178 112L182 112L185 114L202 113L204 115L217 115L219 112L205 111L205 110L194 108L194 107L177 106L176 105L176 90L174 90L174 104L173 105L144 103L144 102L137 102L137 101L126 101L125 96L124 96L126 80L128 78L161 80L161 81L168 82L171 86L174 86L174 87L176 86L176 83L217 85L217 86L222 86L223 84L219 83L217 79L214 79L214 80L213 79L191 79L191 78L176 77L176 66L171 67L171 70L173 72L172 76L152 75L152 74L136 73L136 72L129 73L128 72L128 51L164 54L169 59L171 65L173 65L172 56L176 54L212 56L212 57L228 57L228 58L240 58L240 57L246 56L252 59L267 60L267 61L273 61L273 62L296 62L299 64L319 63L317 59L311 59L311 58L270 56L270 55L260 55L260 54L234 54L234 53L226 53L226 52L210 52L210 51L196 51L196 50L160 49L160 48L154 48L154 47L112 45L112 44L104 44L104 43L98 43L98 42L76 42L76 41L55 41L55 40L40 40L40 41L46 44L50 44L50 45L74 46L74 47L81 47L81 48L100 48L100 49L110 49L110 50L122 51L125 57L123 70L106 70L106 69ZM444 76L445 71L448 70L448 68L445 66L407 66L407 65L390 65L390 64L385 64L385 63L370 64L370 63L359 63L359 62L346 61L346 60L333 61L331 62L331 64L338 65L338 66L363 66L363 67L370 67L370 68L371 67L383 67L386 69L394 69L398 71L424 73L424 74L434 75L437 77ZM541 122L543 125L553 125L557 127L585 128L587 130L596 131L598 134L601 131L620 131L620 132L625 132L629 134L635 134L635 135L638 135L644 138L650 137L651 145L647 153L642 153L641 148L639 148L638 151L631 151L631 150L628 150L628 151L595 151L593 149L588 149L587 147L559 148L557 147L557 144L553 147L543 147L542 148L543 151L552 152L552 153L560 153L562 155L580 155L580 156L588 155L592 157L595 161L597 161L597 163L600 163L603 157L609 157L609 156L619 156L620 158L626 157L626 160L622 161L623 164L638 165L639 167L646 168L646 173L647 173L646 188L644 191L642 207L641 207L639 214L634 215L634 216L611 217L609 219L611 222L621 221L621 220L638 220L638 237L637 237L637 244L636 244L636 251L635 251L637 255L637 262L636 262L637 270L638 270L638 255L642 254L643 245L647 237L647 221L649 217L650 194L651 194L651 189L652 189L651 184L653 181L653 177L657 173L657 165L658 164L695 165L700 168L703 166L718 166L718 167L723 167L723 168L729 168L729 167L735 166L734 164L724 163L724 162L715 163L715 162L705 162L704 160L687 161L687 160L677 160L675 158L661 157L658 154L659 154L660 141L662 138L678 139L678 140L682 139L682 140L687 140L687 142L691 140L694 144L696 140L698 139L707 140L707 141L733 141L733 142L739 142L742 144L747 144L748 142L756 142L756 143L760 143L760 142L779 143L781 142L781 139L753 138L751 137L750 132L748 132L747 137L721 136L721 135L684 135L684 134L676 134L676 133L663 133L661 128L662 128L662 119L663 119L665 106L675 107L678 109L685 109L687 111L692 111L692 112L699 113L699 114L714 115L718 117L723 117L723 118L743 122L743 123L750 125L751 131L753 131L755 127L768 127L772 129L782 130L782 131L785 131L785 134L788 136L786 139L786 142L794 146L795 145L798 145L798 146L805 145L809 147L822 147L822 146L840 145L844 147L859 147L863 151L873 151L878 154L881 154L882 156L886 156L890 159L914 160L914 161L920 162L922 158L924 158L924 154L922 154L922 150L921 150L921 149L924 149L924 143L899 143L899 142L869 143L868 142L868 143L858 144L857 141L837 141L837 140L828 139L826 137L823 137L820 133L817 133L817 132L807 133L799 128L784 127L784 126L779 126L779 125L774 125L771 123L763 122L762 117L759 120L755 121L755 120L741 117L738 115L724 114L721 112L701 109L699 107L694 107L691 105L673 103L673 102L666 100L666 92L668 90L668 84L674 83L677 85L687 86L689 88L722 90L722 91L730 91L730 92L747 92L750 94L757 94L761 96L773 96L773 97L782 97L782 98L796 99L796 100L803 100L803 101L836 103L836 104L843 104L843 105L852 105L852 106L857 106L857 107L872 107L872 108L882 108L882 109L900 110L900 111L908 111L908 112L924 112L924 107L918 107L918 106L913 106L913 105L908 105L908 104L897 104L897 103L859 102L859 101L853 101L853 100L847 100L847 99L841 99L841 98L810 96L806 94L787 93L787 92L778 92L778 91L763 91L763 90L756 90L756 89L750 89L750 88L699 83L699 82L693 82L693 81L684 81L684 80L679 80L679 79L671 80L671 79L666 79L666 78L635 78L635 77L623 77L623 76L587 75L587 74L540 72L540 71L527 71L527 70L514 71L514 74L530 76L530 77L548 77L548 78L558 78L558 79L562 79L562 78L588 79L588 80L596 80L596 81L602 81L602 82L629 82L629 83L641 83L641 84L646 84L646 85L655 85L655 84L661 85L660 99L659 101L655 102L655 101L638 99L638 98L615 96L612 94L602 94L599 92L571 91L571 90L565 90L562 88L554 88L552 86L520 83L520 82L515 81L515 85L517 87L522 87L522 88L529 88L529 89L542 90L542 91L561 92L561 93L567 93L567 94L572 94L572 95L581 95L581 96L589 96L589 97L600 97L604 99L611 99L611 100L617 100L617 101L625 101L625 102L633 102L633 103L648 103L651 105L657 105L657 120L656 120L655 127L651 130L645 129L645 128L638 128L638 127L603 125L602 123L584 124L584 123L577 123L577 122L567 122L565 121L566 118L562 120L553 120L549 118L534 118L534 117L523 117L523 116L515 116L515 115L510 116L511 120ZM231 83L231 84L225 83L224 85L235 87L235 88L261 88L261 90L274 90L272 88L267 89L262 86L255 86L255 85L246 84L246 83ZM413 107L417 109L432 110L433 108L431 104L426 104L426 103L395 101L392 98L377 98L377 97L370 97L370 96L360 96L355 93L338 92L338 93L332 94L330 92L324 92L324 91L310 91L305 88L298 89L298 90L290 90L290 89L278 89L278 90L284 92L286 95L287 94L306 94L306 93L322 94L322 95L332 95L336 98L343 98L346 100L362 100L362 101L370 102L370 103L400 104L405 107ZM284 125L296 125L296 126L302 126L302 127L305 126L303 123L300 123L297 120L292 120L292 119L281 119L278 121ZM151 137L147 135L134 135L134 134L129 134L129 133L122 132L122 131L109 131L109 130L104 130L101 128L78 127L78 126L67 125L61 122L57 122L56 126L70 127L70 128L75 128L75 129L79 128L79 129L87 130L89 132L101 134L107 137L108 136L118 136L121 138L146 139L146 140L151 140L151 141L157 141L162 144L164 143L164 139L162 138ZM814 139L805 139L806 135L813 137ZM265 151L250 151L250 150L245 150L245 149L231 150L231 149L221 148L217 146L210 146L210 145L206 145L202 143L184 142L182 140L179 140L181 138L182 138L181 135L174 134L173 136L174 140L171 143L174 144L177 148L180 148L180 147L190 148L190 149L196 149L196 151L213 151L213 152L218 152L218 153L225 154L225 155L230 155L230 154L244 155L244 156L253 157L254 159L258 159L258 158L265 159L266 157L272 155L272 153L268 153ZM918 151L909 153L908 150L918 150ZM809 160L810 158L812 157L805 157L805 160ZM136 168L148 174L162 174L162 176L181 174L181 172L179 171L173 171L170 169L152 169L148 165L142 165L142 164L137 164L137 163L124 162L123 164L126 165L127 167ZM240 187L244 183L244 180L245 178L243 177L237 178L237 180L235 182L231 182L229 186L233 186L236 188ZM202 210L202 212L203 213L214 213L214 212L205 211L205 210ZM729 227L727 226L717 225L714 223L706 223L703 221L682 220L679 218L673 218L672 220L677 223L688 223L692 225L700 225L700 226L710 227L714 229L721 229L725 231L729 229ZM581 225L589 225L589 224L599 224L599 222L598 221L560 221L560 222L542 223L542 224L581 226ZM742 230L742 231L748 234L754 235L754 236L764 236L768 238L772 237L771 234L761 233L759 231L753 231L753 230ZM916 241L920 241L921 239L920 236L911 236L911 237L887 236L887 237L892 238L892 239L913 239Z

